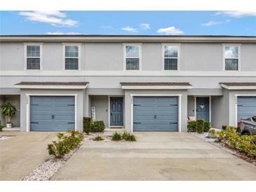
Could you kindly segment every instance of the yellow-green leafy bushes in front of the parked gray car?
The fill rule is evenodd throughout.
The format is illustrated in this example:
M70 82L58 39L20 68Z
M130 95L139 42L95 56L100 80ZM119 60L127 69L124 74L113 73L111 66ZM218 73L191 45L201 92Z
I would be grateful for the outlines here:
M222 142L231 147L231 149L245 153L251 158L256 158L256 135L245 136L235 130L235 127L229 126L226 130L217 132L216 142Z

